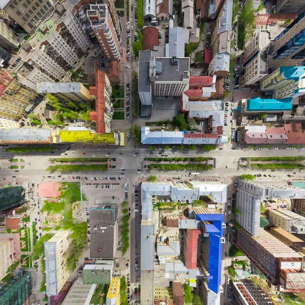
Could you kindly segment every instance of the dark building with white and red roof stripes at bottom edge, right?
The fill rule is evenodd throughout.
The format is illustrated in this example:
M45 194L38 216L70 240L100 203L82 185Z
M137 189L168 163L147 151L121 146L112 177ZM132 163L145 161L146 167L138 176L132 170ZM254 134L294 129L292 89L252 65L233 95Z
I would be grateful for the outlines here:
M239 279L232 284L232 303L234 305L273 304L262 288L253 284L252 279Z

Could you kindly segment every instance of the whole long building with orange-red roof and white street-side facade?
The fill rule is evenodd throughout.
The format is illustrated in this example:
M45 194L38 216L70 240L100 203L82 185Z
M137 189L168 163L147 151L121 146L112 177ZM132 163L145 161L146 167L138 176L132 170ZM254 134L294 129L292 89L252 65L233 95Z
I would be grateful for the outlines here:
M95 111L90 112L90 120L96 122L97 133L111 132L111 93L112 86L106 73L96 72L96 85L89 87L89 93L95 96Z

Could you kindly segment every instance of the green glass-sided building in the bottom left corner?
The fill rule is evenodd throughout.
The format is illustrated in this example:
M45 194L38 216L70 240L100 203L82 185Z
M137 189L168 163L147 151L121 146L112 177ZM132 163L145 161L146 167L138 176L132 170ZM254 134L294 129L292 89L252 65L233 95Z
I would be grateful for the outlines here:
M18 269L17 275L0 289L0 305L32 304L31 272Z

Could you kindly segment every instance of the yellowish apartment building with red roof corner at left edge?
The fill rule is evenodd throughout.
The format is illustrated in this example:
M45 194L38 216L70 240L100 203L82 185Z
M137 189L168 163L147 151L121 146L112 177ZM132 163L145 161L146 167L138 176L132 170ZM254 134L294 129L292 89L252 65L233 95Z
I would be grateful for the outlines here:
M36 86L23 77L13 77L6 70L0 72L0 117L19 120L38 98Z

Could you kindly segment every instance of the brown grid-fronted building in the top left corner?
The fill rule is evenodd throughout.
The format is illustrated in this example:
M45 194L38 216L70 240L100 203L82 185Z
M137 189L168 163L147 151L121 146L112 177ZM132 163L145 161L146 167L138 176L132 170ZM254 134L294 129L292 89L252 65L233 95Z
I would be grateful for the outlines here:
M54 11L53 0L5 0L0 8L14 19L27 33L34 33L39 21L47 20Z

